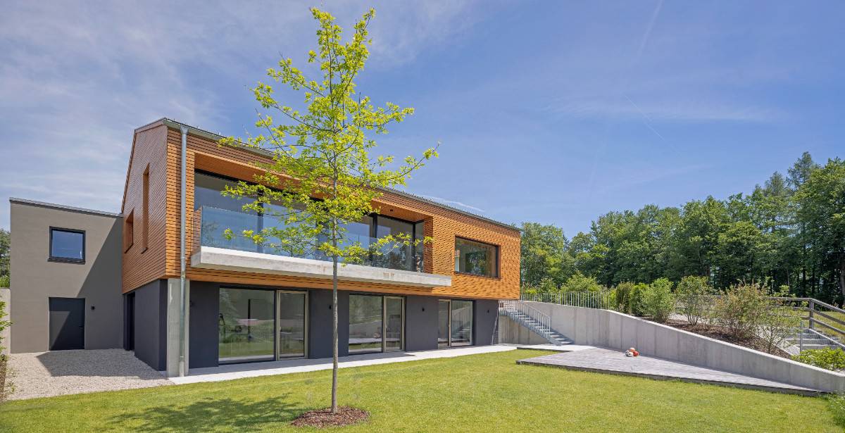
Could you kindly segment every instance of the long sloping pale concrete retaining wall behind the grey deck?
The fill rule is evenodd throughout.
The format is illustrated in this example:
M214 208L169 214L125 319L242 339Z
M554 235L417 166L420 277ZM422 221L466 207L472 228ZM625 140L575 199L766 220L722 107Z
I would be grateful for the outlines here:
M750 375L826 392L845 392L845 375L791 359L764 354L671 326L660 325L611 310L529 302L549 315L552 328L575 344L624 350Z

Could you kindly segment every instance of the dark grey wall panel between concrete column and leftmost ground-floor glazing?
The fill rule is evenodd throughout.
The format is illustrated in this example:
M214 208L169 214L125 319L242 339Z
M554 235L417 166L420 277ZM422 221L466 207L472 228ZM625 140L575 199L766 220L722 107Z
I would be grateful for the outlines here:
M190 314L188 315L188 368L216 367L220 316L220 285L214 282L191 282Z

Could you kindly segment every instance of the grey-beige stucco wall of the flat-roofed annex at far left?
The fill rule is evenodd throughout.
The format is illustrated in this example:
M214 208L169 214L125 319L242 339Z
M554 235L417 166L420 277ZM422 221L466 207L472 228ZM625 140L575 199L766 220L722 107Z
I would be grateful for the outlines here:
M50 297L85 299L85 348L121 348L123 219L94 211L10 202L13 352L48 350ZM47 260L50 227L85 231L85 263Z

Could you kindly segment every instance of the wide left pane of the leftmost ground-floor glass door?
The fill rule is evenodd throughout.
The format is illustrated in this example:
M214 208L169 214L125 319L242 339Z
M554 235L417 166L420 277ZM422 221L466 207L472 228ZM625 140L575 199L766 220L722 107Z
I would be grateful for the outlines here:
M220 289L221 363L275 359L274 297L273 290Z

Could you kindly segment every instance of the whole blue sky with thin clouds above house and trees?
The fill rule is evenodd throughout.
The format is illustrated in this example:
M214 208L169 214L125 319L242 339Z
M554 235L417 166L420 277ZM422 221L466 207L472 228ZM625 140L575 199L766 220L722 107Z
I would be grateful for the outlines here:
M803 151L845 156L842 2L376 2L358 89L417 114L379 141L438 140L409 191L504 222L748 192ZM132 131L254 122L248 86L313 48L308 5L12 2L0 16L7 197L118 211Z

